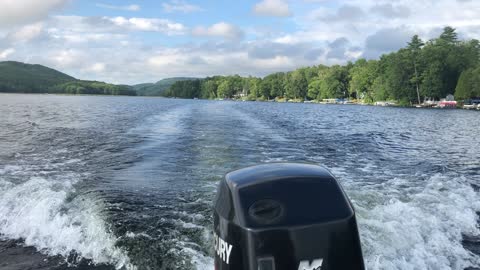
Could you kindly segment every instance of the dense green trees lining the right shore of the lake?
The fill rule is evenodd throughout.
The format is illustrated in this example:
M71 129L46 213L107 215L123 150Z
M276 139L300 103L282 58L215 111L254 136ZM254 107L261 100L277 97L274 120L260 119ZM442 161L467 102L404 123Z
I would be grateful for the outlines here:
M457 100L480 97L480 43L460 41L445 27L436 39L412 37L406 47L379 60L359 59L344 66L319 65L262 78L215 76L174 83L165 96L243 98L248 100L322 100L363 102L394 100L407 105L455 94Z

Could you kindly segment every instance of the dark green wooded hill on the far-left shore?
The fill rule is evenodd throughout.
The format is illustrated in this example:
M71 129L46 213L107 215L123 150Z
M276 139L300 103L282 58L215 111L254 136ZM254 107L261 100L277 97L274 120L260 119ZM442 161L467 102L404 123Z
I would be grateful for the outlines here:
M0 62L0 92L136 95L130 86L77 80L45 66L14 61Z

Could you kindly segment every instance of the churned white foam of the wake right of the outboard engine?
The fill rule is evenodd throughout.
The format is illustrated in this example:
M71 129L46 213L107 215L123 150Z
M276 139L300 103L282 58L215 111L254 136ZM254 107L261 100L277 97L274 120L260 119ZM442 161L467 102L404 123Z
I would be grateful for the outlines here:
M463 270L480 258L462 246L462 235L480 235L480 196L463 177L434 175L408 181L392 179L377 187L347 192L357 210L368 269Z

